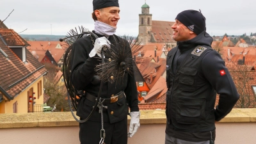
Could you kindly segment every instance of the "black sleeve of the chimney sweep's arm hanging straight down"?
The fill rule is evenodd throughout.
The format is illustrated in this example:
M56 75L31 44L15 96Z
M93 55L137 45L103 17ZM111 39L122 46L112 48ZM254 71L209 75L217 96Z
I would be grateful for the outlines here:
M127 42L127 49L131 49L129 43ZM135 65L135 63L134 63ZM133 68L131 68L133 70ZM129 104L129 108L132 111L139 111L138 107L138 92L137 92L137 86L136 81L134 77L134 72L132 75L128 74L128 80L127 80L127 86L124 90L124 93L126 95L127 102Z

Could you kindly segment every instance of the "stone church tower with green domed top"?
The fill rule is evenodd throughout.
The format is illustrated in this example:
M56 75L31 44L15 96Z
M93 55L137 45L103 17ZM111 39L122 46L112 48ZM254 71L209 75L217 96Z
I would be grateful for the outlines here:
M151 32L152 32L152 14L149 14L149 6L145 2L141 6L140 24L139 24L139 41L141 44L145 45L151 42Z

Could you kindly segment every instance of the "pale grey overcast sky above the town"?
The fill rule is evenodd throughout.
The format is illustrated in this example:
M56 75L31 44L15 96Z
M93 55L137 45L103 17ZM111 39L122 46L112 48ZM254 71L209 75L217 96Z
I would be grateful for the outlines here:
M139 14L145 0L119 0L117 35L138 35ZM94 28L92 0L0 0L0 19L22 34L66 35L70 29ZM255 0L147 0L152 20L174 21L183 10L201 10L207 32L213 35L256 33Z

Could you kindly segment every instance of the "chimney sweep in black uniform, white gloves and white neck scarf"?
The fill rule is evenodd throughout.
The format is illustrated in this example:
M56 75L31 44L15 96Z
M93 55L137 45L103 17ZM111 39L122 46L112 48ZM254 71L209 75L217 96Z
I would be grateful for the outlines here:
M106 46L115 51L120 51L120 49L131 51L129 42L115 35L120 19L119 13L118 0L93 0L92 17L95 21L95 28L92 32L99 38L93 39L93 36L89 35L77 39L73 44L71 81L77 91L85 92L77 105L76 114L81 120L90 115L96 98L101 92L100 104L92 117L79 124L81 144L125 144L127 138L131 138L140 127L138 93L134 76L124 70L124 76L120 79L122 83L116 84L116 81L113 83L108 81L101 85L99 76L95 72L95 67L100 64L102 57L102 47ZM106 55L105 59L110 58ZM114 78L111 76L111 79L112 77ZM129 108L130 113L128 113ZM127 132L128 114L131 116L129 132Z

